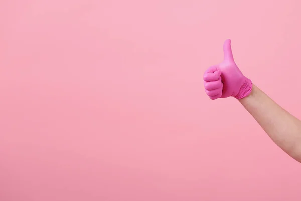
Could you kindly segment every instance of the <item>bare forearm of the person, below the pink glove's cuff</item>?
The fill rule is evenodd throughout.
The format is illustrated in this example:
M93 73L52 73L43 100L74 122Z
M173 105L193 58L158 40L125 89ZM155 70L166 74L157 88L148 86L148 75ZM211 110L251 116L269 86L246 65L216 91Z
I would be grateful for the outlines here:
M301 121L292 116L257 86L239 102L268 136L288 155L301 162Z

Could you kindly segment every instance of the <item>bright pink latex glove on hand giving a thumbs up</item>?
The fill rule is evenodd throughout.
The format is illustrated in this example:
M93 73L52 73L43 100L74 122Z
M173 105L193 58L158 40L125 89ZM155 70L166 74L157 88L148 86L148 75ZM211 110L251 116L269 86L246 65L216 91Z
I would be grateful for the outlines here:
M224 61L209 67L203 76L205 92L210 99L237 99L248 96L252 91L252 81L246 78L234 62L231 41L224 43Z

